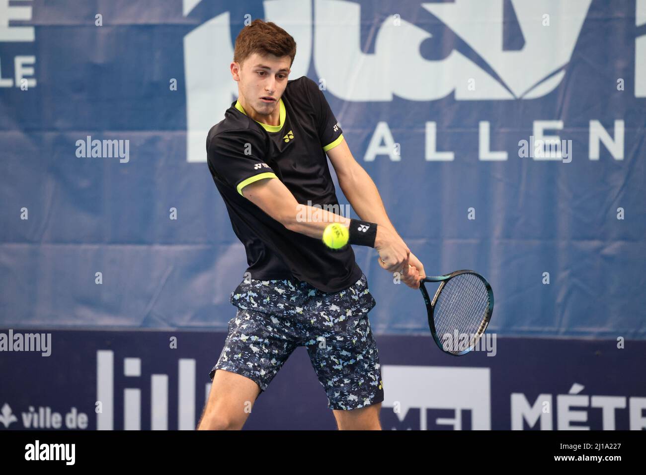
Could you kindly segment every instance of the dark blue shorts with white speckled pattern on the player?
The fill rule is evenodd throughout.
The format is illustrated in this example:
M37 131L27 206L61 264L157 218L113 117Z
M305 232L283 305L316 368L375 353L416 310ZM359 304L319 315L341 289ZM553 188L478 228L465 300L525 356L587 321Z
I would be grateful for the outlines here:
M216 369L242 374L262 391L289 355L304 346L330 409L384 400L379 352L368 321L375 299L365 274L351 287L322 292L297 280L243 280L229 299L238 307Z

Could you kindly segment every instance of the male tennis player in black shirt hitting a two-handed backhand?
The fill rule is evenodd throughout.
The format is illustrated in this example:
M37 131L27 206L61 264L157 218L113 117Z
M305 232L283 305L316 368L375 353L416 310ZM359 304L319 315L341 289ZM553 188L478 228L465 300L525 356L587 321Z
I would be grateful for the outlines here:
M368 321L375 299L352 248L330 250L323 231L334 221L348 227L349 243L377 249L380 266L402 272L409 287L424 277L317 83L287 79L295 55L293 37L274 23L245 26L230 66L238 100L207 137L209 170L249 267L231 294L238 309L198 429L241 429L299 346L339 429L381 429L384 390ZM339 202L326 154L361 221L328 210Z

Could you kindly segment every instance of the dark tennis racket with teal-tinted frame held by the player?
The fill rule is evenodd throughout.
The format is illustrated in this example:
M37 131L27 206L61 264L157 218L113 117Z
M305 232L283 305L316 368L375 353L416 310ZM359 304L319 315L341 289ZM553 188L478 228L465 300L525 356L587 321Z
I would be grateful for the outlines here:
M424 282L440 283L433 300L428 298ZM456 270L422 279L419 290L437 346L453 356L473 350L494 312L494 291L486 279L473 270Z

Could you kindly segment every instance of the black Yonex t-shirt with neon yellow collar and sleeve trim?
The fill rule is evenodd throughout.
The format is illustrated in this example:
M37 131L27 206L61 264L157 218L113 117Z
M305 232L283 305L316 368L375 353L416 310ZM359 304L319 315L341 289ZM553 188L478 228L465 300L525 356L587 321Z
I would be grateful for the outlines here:
M362 274L351 246L331 250L321 239L288 230L242 195L249 183L277 178L298 203L342 214L326 151L343 136L324 94L302 76L287 81L278 106L280 125L270 126L247 116L237 101L231 104L207 136L211 176L245 247L252 279L296 278L323 292L344 290Z

